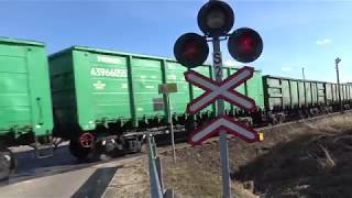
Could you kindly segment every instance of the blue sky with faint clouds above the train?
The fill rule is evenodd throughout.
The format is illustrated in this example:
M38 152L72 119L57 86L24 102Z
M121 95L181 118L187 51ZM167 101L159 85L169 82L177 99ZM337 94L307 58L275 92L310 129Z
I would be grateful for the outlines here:
M0 35L43 41L48 53L72 45L173 57L176 38L200 33L197 12L205 0L0 0ZM352 1L228 1L234 29L263 37L262 56L249 64L263 74L352 81ZM234 62L222 42L224 63Z

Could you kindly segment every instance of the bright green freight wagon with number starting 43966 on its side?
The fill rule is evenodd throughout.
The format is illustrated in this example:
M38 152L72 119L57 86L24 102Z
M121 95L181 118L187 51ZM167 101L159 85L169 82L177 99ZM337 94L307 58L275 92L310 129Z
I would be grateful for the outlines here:
M227 69L229 74L235 72ZM166 98L158 94L158 85L177 84L178 91L170 94L173 120L176 125L193 122L186 107L202 90L185 80L186 70L174 59L90 47L74 46L53 54L54 134L70 140L70 152L79 158L86 158L92 147L138 151L141 132L166 125ZM212 74L209 65L195 70L208 77ZM261 87L261 72L255 72L239 89L263 107ZM200 114L209 112L213 106Z

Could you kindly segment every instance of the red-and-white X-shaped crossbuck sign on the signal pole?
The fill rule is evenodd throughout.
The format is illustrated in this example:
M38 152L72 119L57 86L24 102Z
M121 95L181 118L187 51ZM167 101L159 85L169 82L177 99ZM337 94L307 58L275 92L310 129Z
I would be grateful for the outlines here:
M218 99L224 99L246 110L254 110L256 107L253 99L233 90L250 79L253 72L252 67L242 67L220 84L194 70L186 72L185 78L188 82L206 90L205 94L188 103L187 113L196 114Z

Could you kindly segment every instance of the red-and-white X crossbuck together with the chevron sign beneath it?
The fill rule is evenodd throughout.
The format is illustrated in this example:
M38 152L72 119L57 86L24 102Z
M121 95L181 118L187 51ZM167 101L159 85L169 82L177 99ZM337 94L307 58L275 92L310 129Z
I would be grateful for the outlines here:
M256 106L253 99L234 90L234 88L250 79L253 76L253 72L254 68L252 67L243 67L221 82L217 82L194 70L186 72L186 80L206 91L188 103L187 112L190 114L198 113L201 109L206 108L218 99L223 99L246 110L255 110ZM258 141L258 134L255 130L245 127L244 124L234 121L227 116L221 116L212 122L197 129L190 134L188 142L193 145L200 144L221 130L224 130L228 133L233 134L246 142Z

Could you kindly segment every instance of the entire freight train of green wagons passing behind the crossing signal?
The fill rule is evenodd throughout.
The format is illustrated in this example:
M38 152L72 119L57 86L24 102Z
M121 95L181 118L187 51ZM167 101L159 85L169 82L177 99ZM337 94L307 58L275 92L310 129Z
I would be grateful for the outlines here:
M211 120L215 106L199 114L186 114L186 106L202 90L189 85L186 67L163 57L73 46L46 56L45 44L0 38L0 179L15 167L11 146L31 145L37 157L53 154L61 141L68 140L70 153L89 158L108 154L139 152L146 134L167 134L166 97L158 85L176 82L170 95L176 132L187 131ZM195 68L212 77L210 65ZM237 68L224 66L224 77ZM253 77L237 88L253 98L256 111L231 105L226 112L254 127L304 119L350 108L352 86L293 78Z

